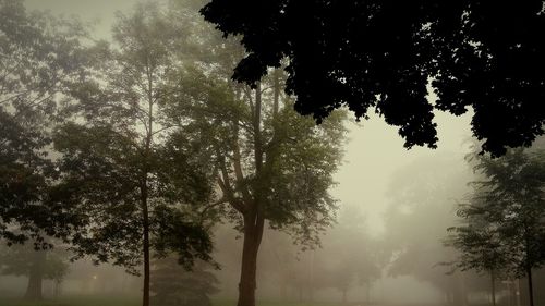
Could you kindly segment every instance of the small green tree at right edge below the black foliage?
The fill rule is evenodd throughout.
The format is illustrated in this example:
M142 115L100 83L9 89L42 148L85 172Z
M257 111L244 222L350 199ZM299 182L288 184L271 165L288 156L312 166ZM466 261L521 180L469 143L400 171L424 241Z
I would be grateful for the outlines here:
M543 156L541 150L523 149L508 150L498 159L477 156L475 171L484 176L474 182L480 200L463 208L462 217L479 220L485 231L480 229L475 236L470 223L458 228L456 236L464 267L501 268L513 277L526 276L532 306L532 270L545 262Z

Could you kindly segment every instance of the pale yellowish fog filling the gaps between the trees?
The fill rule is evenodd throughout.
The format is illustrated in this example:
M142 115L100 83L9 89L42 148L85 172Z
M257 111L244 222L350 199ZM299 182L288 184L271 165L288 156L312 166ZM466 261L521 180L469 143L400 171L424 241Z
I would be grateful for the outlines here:
M24 1L29 10L83 20L97 40L111 40L116 12L130 12L136 2ZM433 101L434 94L429 93L428 98ZM452 272L449 262L457 260L458 253L445 245L447 229L463 223L457 210L470 199L473 191L470 183L481 180L467 158L475 154L472 145L476 143L471 137L471 111L461 117L435 113L439 139L435 149L417 146L407 149L396 127L386 124L378 114L370 117L356 122L350 113L343 121L347 142L332 175L335 185L329 189L337 200L336 222L319 233L319 244L298 243L287 231L271 229L275 224L269 227L269 221L265 221L257 257L257 305L491 304L488 274L471 269ZM210 281L216 290L207 293L211 305L237 303L243 248L243 236L235 229L240 227L239 219L221 217L210 225L211 259L219 269L203 264L202 270L195 270L197 276L206 271L216 278ZM141 266L129 273L111 260L95 265L87 255L70 261L72 255L65 250L70 246L60 241L55 244L47 253L60 252L59 260L65 262L68 272L58 281L55 277L45 279L41 284L45 301L58 301L47 305L140 305L143 278L134 273L142 273ZM14 247L26 245L2 244L4 261L0 264L8 268L0 276L0 296L3 296L0 305L23 305L11 303L19 303L28 287L25 272L9 269L10 258L23 258L10 255ZM199 260L196 262L201 265ZM153 295L154 261L152 266ZM190 273L181 266L179 271L169 269L174 274ZM543 273L535 270L534 278L540 305L545 303ZM501 305L526 305L525 292L516 290L519 286L524 286L523 281L519 284L511 277L498 277L495 301Z

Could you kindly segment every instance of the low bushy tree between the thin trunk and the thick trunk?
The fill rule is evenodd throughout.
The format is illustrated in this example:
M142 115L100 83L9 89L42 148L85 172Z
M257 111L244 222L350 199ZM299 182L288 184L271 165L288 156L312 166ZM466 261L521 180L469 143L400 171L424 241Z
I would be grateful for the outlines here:
M210 294L217 293L218 280L209 264L197 261L191 270L177 258L153 261L150 290L154 306L210 306Z

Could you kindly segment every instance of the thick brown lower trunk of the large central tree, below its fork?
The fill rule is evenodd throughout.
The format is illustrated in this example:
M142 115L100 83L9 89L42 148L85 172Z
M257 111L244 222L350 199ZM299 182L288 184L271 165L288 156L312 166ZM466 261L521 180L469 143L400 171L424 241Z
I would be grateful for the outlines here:
M257 253L262 242L264 219L258 213L244 216L244 243L237 306L255 306L257 289Z

